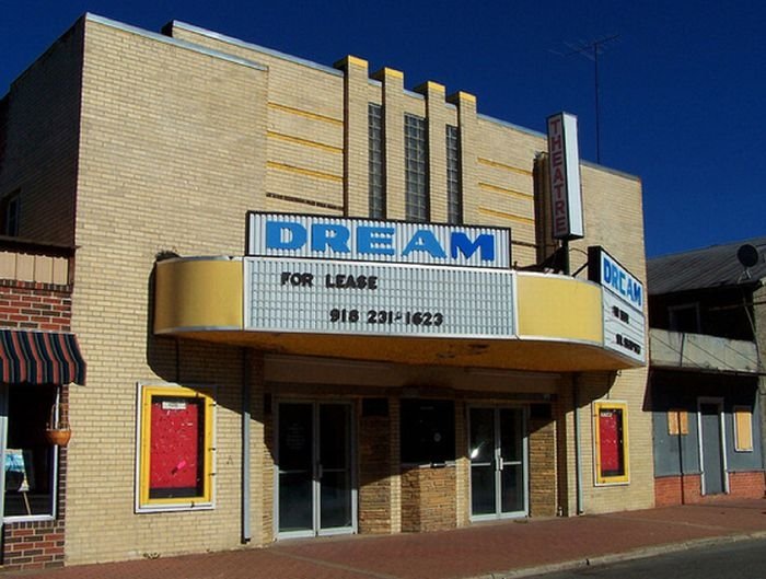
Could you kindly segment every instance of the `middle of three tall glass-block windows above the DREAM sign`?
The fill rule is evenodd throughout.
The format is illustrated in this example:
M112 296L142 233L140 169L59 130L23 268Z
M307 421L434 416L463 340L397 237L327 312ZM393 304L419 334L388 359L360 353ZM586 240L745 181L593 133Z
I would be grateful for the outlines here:
M405 218L427 221L428 206L428 144L426 119L404 116Z

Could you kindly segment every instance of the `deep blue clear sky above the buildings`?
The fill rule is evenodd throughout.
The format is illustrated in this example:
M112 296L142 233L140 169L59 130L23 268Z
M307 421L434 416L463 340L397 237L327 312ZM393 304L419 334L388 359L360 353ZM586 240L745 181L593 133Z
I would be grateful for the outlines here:
M618 35L599 57L601 163L641 177L648 255L766 234L764 2L0 0L0 93L86 11L153 32L178 20L323 65L352 54L538 131L568 111L589 161L593 62L566 54Z

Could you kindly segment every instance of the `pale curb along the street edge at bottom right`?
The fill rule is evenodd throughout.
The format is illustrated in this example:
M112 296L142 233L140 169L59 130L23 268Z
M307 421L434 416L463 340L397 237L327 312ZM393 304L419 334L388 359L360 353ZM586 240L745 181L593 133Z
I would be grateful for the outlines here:
M510 569L507 571L496 571L465 579L517 579L521 577L534 577L537 575L547 575L553 572L569 571L584 567L601 567L613 565L615 563L630 561L657 557L671 553L681 553L683 551L692 551L695 548L709 547L712 545L726 545L729 543L739 543L741 541L754 541L766 539L766 531L756 531L752 533L740 533L734 535L721 535L708 539L695 539L692 541L683 541L680 543L666 543L664 545L653 545L650 547L640 547L622 553L611 553L608 555L597 555L595 557L585 557L570 559L560 563L552 563L548 565L538 565L534 567L524 567L522 569Z

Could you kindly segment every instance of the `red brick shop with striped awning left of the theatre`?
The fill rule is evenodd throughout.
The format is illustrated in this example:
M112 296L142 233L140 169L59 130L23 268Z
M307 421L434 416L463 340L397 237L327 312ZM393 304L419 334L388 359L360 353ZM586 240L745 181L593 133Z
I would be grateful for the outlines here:
M4 568L63 561L69 390L85 361L69 332L73 251L0 242L0 520Z

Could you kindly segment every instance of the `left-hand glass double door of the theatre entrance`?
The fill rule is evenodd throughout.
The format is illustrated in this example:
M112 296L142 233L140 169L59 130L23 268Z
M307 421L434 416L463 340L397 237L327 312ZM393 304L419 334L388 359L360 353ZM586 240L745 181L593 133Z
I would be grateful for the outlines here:
M278 536L355 532L351 406L280 403L277 431Z

